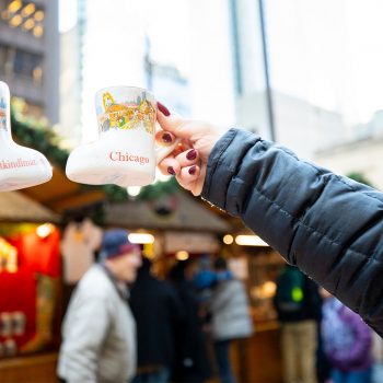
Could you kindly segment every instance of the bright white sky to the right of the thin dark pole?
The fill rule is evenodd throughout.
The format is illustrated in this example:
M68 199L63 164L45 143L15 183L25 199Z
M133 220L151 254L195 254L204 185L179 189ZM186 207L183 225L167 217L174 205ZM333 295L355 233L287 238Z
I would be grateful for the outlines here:
M383 1L267 0L271 82L367 123L382 109Z

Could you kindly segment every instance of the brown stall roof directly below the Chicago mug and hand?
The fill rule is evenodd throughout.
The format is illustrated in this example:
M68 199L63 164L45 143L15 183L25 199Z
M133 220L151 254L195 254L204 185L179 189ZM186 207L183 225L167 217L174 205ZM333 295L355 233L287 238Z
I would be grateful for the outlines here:
M171 210L169 214L161 211ZM183 190L155 202L126 201L105 206L105 224L129 229L184 230L227 233L231 225Z

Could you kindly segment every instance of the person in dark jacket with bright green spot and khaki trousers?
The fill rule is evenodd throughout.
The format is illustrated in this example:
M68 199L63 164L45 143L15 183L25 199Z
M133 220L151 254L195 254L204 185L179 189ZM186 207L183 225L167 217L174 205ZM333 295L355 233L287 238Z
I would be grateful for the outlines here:
M274 304L281 324L286 383L315 383L322 301L317 286L297 267L285 265Z

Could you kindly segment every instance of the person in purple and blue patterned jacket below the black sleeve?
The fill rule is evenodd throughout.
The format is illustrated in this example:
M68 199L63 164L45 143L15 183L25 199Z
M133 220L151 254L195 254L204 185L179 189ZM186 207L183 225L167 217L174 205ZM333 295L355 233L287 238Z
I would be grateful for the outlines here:
M332 363L334 383L371 382L372 330L361 317L326 290L323 304L324 350Z

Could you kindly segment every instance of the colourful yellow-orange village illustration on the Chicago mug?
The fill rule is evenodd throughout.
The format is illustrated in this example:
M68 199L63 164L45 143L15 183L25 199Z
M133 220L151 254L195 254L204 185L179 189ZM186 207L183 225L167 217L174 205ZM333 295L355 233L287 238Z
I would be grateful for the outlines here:
M148 134L154 132L155 109L144 96L118 104L109 92L105 92L103 106L105 113L98 117L103 131L109 128L137 129L143 126Z

